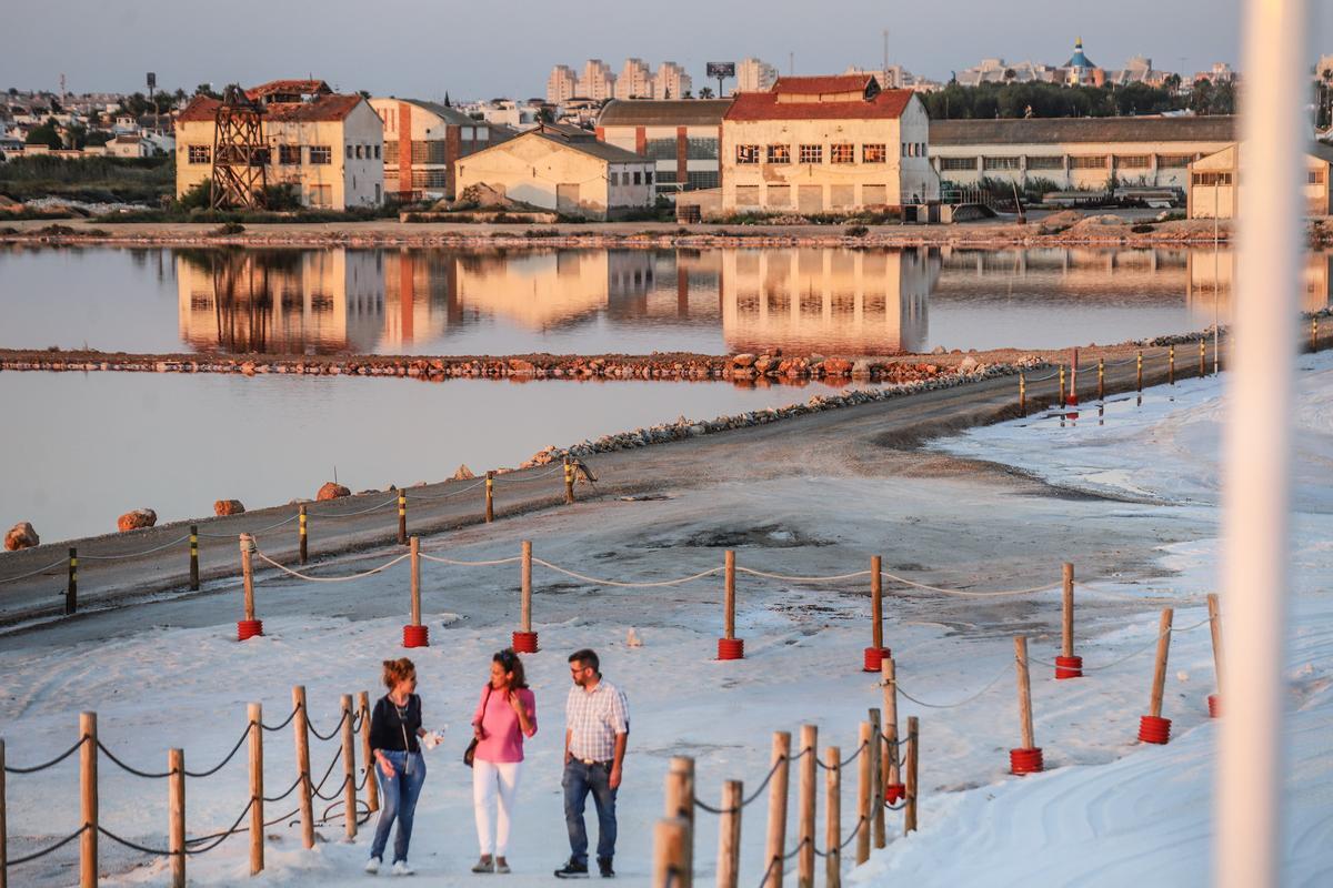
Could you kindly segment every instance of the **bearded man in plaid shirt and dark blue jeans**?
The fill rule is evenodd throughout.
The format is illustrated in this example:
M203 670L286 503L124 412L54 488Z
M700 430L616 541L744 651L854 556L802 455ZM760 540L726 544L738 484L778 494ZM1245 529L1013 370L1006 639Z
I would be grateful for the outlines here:
M569 655L575 686L565 700L565 825L569 828L569 861L556 871L560 879L588 877L588 829L584 803L592 793L597 807L597 868L603 877L616 875L616 791L620 788L629 738L629 704L620 688L601 678L597 654L589 650Z

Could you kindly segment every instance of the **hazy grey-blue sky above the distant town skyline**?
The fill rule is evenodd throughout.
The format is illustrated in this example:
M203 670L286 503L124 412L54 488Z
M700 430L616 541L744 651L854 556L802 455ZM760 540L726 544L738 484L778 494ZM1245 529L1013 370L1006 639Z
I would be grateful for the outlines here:
M758 56L796 73L890 61L948 79L981 57L1064 63L1074 37L1104 68L1132 55L1193 73L1238 65L1241 0L5 0L0 88L135 91L255 84L313 73L343 91L437 99L541 96L559 63L704 63ZM1310 60L1333 52L1325 4L1310 3ZM1081 7L1081 8L1080 8Z

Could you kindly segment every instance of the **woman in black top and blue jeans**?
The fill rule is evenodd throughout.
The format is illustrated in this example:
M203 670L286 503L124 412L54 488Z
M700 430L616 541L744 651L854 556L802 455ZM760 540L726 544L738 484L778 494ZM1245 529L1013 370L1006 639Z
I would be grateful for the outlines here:
M376 702L371 714L371 754L375 756L375 776L380 781L380 820L375 825L365 871L380 871L389 828L397 820L393 875L411 876L408 843L412 841L412 816L425 781L425 759L419 742L427 736L421 727L421 698L415 694L416 666L412 660L405 656L384 660L384 686L389 692ZM429 742L427 744L431 746Z

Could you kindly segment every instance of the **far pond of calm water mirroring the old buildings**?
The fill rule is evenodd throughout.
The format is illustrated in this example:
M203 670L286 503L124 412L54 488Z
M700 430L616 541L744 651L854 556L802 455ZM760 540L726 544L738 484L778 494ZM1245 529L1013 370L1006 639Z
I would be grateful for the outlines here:
M1230 253L9 249L0 346L104 351L869 353L1062 347L1226 320ZM1329 305L1329 256L1306 309Z

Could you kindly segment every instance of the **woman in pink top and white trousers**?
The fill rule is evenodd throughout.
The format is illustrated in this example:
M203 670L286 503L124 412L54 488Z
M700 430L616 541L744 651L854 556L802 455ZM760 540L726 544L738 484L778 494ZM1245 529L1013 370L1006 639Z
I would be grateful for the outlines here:
M472 805L477 817L481 860L472 872L509 872L509 817L519 792L523 739L537 732L537 699L528 690L523 660L512 650L491 658L491 680L472 716L477 750L472 763ZM500 816L496 820L496 796ZM492 829L492 820L496 820Z

